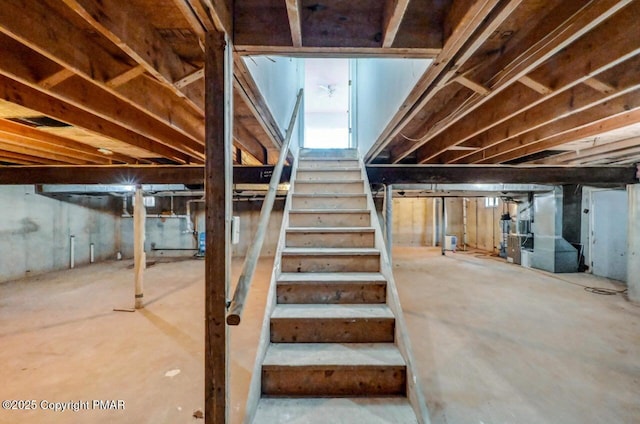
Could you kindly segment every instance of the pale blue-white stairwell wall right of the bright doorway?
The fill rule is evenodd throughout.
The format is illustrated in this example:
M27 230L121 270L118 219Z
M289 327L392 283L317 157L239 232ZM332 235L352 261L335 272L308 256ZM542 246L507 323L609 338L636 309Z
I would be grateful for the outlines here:
M356 137L364 156L424 74L430 59L356 59Z

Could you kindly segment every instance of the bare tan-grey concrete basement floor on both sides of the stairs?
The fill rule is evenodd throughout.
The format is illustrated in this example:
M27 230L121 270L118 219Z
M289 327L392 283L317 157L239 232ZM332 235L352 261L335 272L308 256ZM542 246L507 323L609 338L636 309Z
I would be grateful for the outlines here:
M204 264L150 267L146 308L113 312L132 304L129 264L0 284L0 400L121 399L125 409L0 410L0 423L202 422L192 414L203 407ZM234 424L270 267L259 263L231 329ZM394 249L394 271L434 424L640 422L640 306L576 285L612 282L429 248Z

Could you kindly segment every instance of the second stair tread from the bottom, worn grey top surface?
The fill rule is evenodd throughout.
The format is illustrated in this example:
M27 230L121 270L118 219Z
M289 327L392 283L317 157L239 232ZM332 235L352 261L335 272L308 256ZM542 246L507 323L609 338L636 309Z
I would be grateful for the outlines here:
M264 367L402 367L393 343L271 343Z

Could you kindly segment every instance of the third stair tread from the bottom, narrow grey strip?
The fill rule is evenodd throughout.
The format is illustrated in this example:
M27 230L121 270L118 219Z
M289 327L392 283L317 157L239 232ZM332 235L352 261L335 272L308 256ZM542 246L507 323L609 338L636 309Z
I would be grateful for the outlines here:
M393 312L385 304L278 304L273 310L271 319L394 319Z

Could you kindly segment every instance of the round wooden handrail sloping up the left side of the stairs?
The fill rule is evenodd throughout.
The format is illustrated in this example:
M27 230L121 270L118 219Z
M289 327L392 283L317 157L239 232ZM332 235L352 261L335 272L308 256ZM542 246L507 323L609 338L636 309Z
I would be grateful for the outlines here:
M291 143L291 136L293 135L293 128L296 124L296 118L298 117L298 110L300 109L300 103L302 100L303 90L298 92L298 98L296 99L296 105L293 108L293 114L289 121L289 127L287 128L287 134L282 142L280 148L280 156L278 157L278 163L273 168L273 175L271 175L271 182L269 182L269 190L262 202L262 209L260 210L260 218L258 220L258 230L253 238L253 242L249 245L249 250L244 259L242 265L242 274L238 279L238 285L233 293L233 299L229 305L229 313L227 315L228 325L240 324L240 317L242 316L242 310L244 308L245 299L249 294L249 288L251 287L251 280L256 270L256 264L260 256L260 250L262 250L262 244L264 237L267 233L267 224L269 223L269 217L271 216L271 210L273 209L273 203L276 198L276 191L278 184L280 184L280 177L282 176L282 168L284 162L287 159L289 152L289 144Z

